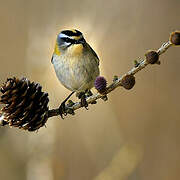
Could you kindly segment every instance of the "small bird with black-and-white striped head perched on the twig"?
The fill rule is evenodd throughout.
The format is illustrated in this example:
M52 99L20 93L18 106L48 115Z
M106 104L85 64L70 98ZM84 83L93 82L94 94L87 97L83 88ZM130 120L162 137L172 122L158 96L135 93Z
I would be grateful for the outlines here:
M57 35L51 63L60 83L71 91L59 106L60 116L63 118L63 115L67 115L65 103L75 92L81 99L81 106L87 108L86 94L92 95L90 90L100 70L99 58L82 32L76 29L62 30Z

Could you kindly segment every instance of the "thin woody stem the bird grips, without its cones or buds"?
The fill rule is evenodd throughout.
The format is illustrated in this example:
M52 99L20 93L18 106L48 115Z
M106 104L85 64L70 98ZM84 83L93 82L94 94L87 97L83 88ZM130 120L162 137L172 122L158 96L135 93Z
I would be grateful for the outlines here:
M158 55L161 55L161 54L165 53L166 50L168 48L170 48L172 45L173 44L170 41L168 41L166 43L163 43L163 45L156 52L158 53ZM129 72L127 72L126 74L124 74L120 78L117 78L112 84L110 84L106 88L106 93L105 94L109 94L110 92L112 92L117 87L122 86L122 79L126 75L135 75L137 72L139 72L140 70L144 69L148 64L149 63L147 62L146 58L140 60L140 62L139 62L137 67L133 67ZM86 98L86 101L87 101L88 104L91 104L95 100L103 98L105 96L105 94L96 93L96 94ZM76 102L72 106L66 105L67 112L68 112L69 108L75 111L75 110L81 108L81 103L80 102ZM59 115L59 109L51 109L51 110L48 111L48 117L53 117L53 116L58 116L58 115Z

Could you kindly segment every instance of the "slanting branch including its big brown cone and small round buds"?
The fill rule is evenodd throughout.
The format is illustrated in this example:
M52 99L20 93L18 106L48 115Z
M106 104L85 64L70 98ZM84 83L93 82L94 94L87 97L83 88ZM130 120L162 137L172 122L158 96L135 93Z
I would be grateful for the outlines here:
M149 64L160 64L159 56L166 52L172 45L180 45L180 31L171 33L168 42L164 43L157 51L149 50L145 58L134 62L134 67L120 78L114 77L113 83L106 87L104 77L97 77L95 88L98 92L86 98L88 104L95 104L96 100L107 100L107 94L122 86L132 89L135 85L134 75ZM9 125L19 129L36 131L45 126L48 118L60 115L59 108L49 110L48 93L42 91L39 83L31 82L27 78L8 78L0 88L0 126ZM74 115L74 111L81 108L80 102L69 101L65 106L65 114Z

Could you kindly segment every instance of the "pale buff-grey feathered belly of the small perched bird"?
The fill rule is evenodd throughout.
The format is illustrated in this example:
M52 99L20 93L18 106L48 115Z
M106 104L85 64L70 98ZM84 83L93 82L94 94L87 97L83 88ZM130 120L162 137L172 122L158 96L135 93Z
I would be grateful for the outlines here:
M99 75L99 68L90 59L76 60L71 58L55 59L54 69L59 81L69 90L81 92L94 86L95 78Z

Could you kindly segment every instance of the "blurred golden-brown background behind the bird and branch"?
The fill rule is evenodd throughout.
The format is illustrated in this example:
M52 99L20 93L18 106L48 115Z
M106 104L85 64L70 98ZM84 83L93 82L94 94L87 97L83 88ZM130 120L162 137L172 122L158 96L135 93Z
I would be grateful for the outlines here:
M25 76L58 107L69 91L58 82L51 55L56 34L76 28L101 59L109 82L180 30L179 0L0 0L0 83ZM179 180L180 48L161 65L136 75L131 91L63 121L51 118L38 133L0 128L3 180Z

